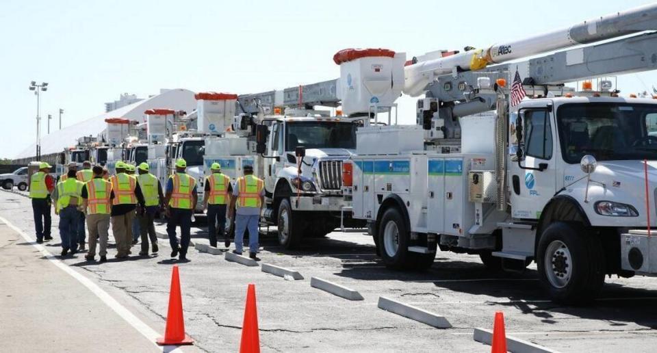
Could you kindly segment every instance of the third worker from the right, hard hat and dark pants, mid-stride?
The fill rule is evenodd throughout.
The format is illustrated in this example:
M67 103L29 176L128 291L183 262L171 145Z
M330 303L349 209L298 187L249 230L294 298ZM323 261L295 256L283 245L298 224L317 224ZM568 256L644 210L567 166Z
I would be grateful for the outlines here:
M196 180L185 173L187 161L176 161L176 173L169 177L166 183L165 202L168 205L166 214L168 222L166 233L173 249L171 257L179 253L179 260L187 260L187 248L190 246L190 228L192 227L192 213L196 209L198 195L196 194ZM176 226L180 226L180 247L176 238Z

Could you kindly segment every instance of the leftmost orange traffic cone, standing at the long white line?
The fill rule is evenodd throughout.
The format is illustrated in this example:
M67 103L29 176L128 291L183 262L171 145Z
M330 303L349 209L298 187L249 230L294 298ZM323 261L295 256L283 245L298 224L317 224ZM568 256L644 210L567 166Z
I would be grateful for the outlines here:
M183 300L180 295L180 278L178 265L173 265L171 273L171 291L169 292L169 310L166 313L166 328L164 337L157 339L159 345L193 344L194 340L185 335L183 320Z

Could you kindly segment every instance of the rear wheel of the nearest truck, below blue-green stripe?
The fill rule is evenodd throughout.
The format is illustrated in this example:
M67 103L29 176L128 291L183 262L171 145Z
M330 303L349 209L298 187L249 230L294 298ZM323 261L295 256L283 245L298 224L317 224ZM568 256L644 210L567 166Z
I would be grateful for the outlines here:
M383 213L378 227L378 246L386 267L406 270L412 265L409 257L409 231L398 209L392 207Z

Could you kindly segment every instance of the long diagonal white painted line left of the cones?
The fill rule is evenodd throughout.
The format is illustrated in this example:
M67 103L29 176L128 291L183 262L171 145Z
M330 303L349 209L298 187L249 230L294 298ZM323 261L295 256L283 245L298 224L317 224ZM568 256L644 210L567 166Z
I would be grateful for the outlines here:
M71 277L75 278L79 283L81 283L83 286L87 287L92 293L94 293L100 300L102 300L105 305L109 306L110 309L112 309L115 313L117 313L121 318L123 318L128 324L130 324L133 328L138 330L146 339L151 341L153 345L159 350L162 348L162 346L157 345L155 343L155 340L162 335L158 334L153 330L153 328L149 327L146 325L144 322L142 322L139 317L136 317L133 313L131 313L128 309L126 309L125 306L121 305L119 302L116 301L116 299L112 298L110 294L108 294L106 291L101 289L96 283L93 283L92 280L89 278L86 278L79 272L73 270L70 268L68 265L57 259L51 252L49 252L44 246L41 244L37 244L34 239L32 239L27 233L23 232L20 228L17 226L14 226L14 224L10 223L8 220L6 220L3 217L0 217L0 221L4 222L12 228L14 231L16 231L18 234L20 234L23 239L26 241L29 241L34 246L37 248L42 254L44 254L44 257L49 259L53 265L60 267L60 270L66 272L69 274ZM180 348L177 348L175 345L167 345L166 351L167 352L183 352Z

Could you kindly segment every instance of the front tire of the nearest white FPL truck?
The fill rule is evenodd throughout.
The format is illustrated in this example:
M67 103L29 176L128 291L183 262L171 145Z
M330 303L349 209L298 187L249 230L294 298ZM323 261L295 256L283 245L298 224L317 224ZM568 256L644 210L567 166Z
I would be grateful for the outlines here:
M537 267L541 284L554 302L584 304L604 284L604 251L581 224L554 222L539 240Z

